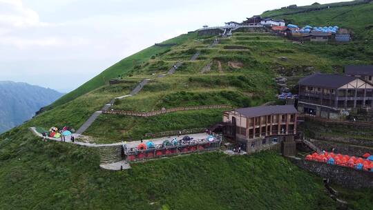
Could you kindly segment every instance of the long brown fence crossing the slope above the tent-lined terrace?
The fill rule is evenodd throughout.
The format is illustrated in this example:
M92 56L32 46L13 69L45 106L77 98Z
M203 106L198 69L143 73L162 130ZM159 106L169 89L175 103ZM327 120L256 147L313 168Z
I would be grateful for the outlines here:
M162 109L159 111L150 111L150 112L108 110L108 111L102 111L102 113L112 114L112 115L128 115L128 116L136 116L136 117L151 117L155 115L163 115L166 113L173 113L177 111L193 111L193 110L202 110L202 109L211 109L211 108L232 108L232 106L229 106L229 105L187 106L187 107L178 107L178 108L168 108L168 109Z

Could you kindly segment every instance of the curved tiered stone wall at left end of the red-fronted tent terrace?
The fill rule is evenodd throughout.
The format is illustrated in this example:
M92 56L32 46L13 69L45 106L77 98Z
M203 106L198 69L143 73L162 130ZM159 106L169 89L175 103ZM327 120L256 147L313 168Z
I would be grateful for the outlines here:
M100 164L111 164L124 160L122 158L122 145L99 146L97 151L100 157Z

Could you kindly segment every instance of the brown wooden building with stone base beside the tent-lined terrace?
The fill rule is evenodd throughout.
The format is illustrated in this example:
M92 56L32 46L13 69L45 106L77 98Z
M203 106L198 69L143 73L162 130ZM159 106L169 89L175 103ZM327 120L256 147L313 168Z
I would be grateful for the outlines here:
M298 111L292 105L257 106L226 111L223 122L230 124L236 141L248 153L278 147L285 137L296 135ZM287 141L289 142L289 141ZM294 142L294 141L293 141ZM295 153L294 144L287 144L289 154ZM290 152L289 152L290 151Z

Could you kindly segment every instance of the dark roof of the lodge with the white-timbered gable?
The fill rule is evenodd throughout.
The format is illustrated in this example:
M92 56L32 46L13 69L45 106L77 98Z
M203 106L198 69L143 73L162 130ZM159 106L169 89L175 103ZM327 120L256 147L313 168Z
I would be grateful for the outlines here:
M354 81L356 77L345 75L323 75L316 73L308 77L303 77L299 80L299 84L303 86L316 86L321 88L339 88L345 84Z

